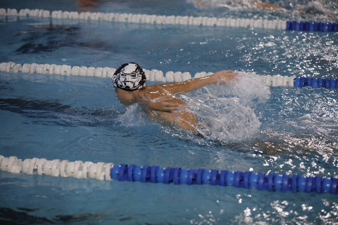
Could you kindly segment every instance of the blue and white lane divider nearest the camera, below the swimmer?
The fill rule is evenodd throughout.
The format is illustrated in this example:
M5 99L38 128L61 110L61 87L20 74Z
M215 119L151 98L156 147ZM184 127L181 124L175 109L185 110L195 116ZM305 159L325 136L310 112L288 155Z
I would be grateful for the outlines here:
M26 173L98 180L140 181L163 184L218 185L236 188L255 188L261 191L292 191L338 194L337 177L300 176L297 174L253 173L250 171L162 168L160 166L113 165L90 161L25 159L0 155L0 170L10 173Z

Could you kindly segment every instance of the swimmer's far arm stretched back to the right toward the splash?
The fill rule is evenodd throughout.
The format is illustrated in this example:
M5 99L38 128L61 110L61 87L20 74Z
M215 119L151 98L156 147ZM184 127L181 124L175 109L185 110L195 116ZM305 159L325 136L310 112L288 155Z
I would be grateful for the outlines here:
M227 71L223 70L207 77L194 78L179 83L162 84L162 86L171 93L176 94L182 92L189 92L208 84L216 84L216 83L224 84L234 80L236 75L237 73L232 70Z

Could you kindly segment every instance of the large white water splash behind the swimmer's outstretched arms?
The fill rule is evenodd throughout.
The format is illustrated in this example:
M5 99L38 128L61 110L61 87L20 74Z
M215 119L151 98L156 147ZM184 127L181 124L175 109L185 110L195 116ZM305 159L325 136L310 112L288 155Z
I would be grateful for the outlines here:
M205 89L207 93L191 97L188 104L202 123L198 132L222 143L252 138L259 132L255 109L270 96L259 75L240 72L236 81Z

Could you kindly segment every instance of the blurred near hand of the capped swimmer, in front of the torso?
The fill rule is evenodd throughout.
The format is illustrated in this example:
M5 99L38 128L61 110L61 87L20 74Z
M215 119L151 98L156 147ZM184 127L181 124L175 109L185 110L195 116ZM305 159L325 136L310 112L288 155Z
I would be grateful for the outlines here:
M156 99L142 99L139 101L139 104L144 110L154 110L168 113L187 107L177 103L170 103L174 99L176 99L175 95L164 95L157 97Z

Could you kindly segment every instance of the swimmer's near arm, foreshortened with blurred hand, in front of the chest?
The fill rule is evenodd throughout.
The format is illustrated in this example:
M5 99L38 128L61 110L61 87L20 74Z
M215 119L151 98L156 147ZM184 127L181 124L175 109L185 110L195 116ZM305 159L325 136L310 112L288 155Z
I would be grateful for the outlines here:
M144 91L137 96L137 102L145 111L154 110L170 113L172 111L182 109L184 106L182 104L175 103L175 100L177 100L176 96L168 95L165 92L160 93L159 91L156 95Z

